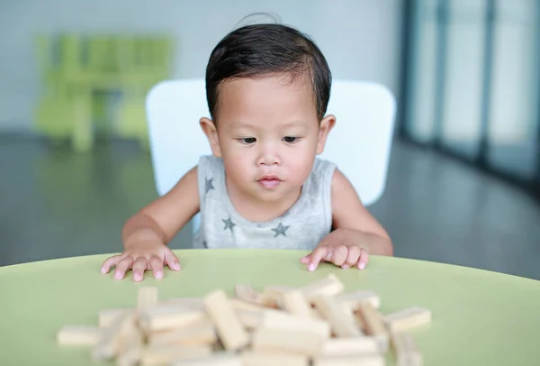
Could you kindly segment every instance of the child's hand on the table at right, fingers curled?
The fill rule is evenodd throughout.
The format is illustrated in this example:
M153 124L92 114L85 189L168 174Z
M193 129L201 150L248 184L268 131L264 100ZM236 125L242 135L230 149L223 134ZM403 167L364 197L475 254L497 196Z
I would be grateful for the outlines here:
M301 262L308 264L311 271L317 269L320 261L330 261L344 270L351 267L364 270L369 252L363 245L363 239L362 233L356 230L337 229L329 233Z

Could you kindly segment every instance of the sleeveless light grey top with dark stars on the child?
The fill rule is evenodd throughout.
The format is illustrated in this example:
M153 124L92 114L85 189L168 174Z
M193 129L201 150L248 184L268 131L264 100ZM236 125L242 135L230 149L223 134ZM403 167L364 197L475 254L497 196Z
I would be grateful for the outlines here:
M229 199L223 161L202 156L198 166L200 226L194 248L311 250L332 227L331 183L336 165L316 159L296 203L284 215L251 222Z

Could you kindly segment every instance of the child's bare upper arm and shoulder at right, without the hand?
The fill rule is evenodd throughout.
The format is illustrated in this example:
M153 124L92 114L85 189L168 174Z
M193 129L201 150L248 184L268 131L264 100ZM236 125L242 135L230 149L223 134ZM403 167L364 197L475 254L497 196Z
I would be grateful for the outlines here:
M331 192L334 228L359 230L389 238L386 230L365 208L356 189L339 169L335 170L332 177Z

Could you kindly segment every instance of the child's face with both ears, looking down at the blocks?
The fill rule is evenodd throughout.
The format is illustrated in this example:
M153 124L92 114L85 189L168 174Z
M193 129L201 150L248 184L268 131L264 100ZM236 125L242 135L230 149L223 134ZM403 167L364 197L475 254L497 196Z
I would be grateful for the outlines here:
M288 76L238 78L220 87L217 131L201 120L228 188L244 197L278 201L298 195L335 123L320 123L311 85ZM232 186L232 187L230 187Z

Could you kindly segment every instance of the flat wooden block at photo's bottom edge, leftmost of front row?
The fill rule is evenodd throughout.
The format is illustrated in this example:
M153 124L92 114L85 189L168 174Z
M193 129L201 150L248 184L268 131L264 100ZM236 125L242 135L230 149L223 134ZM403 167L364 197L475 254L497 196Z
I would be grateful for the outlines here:
M208 345L179 346L157 345L148 346L140 356L140 364L145 366L168 365L179 360L192 360L211 355L211 347Z

